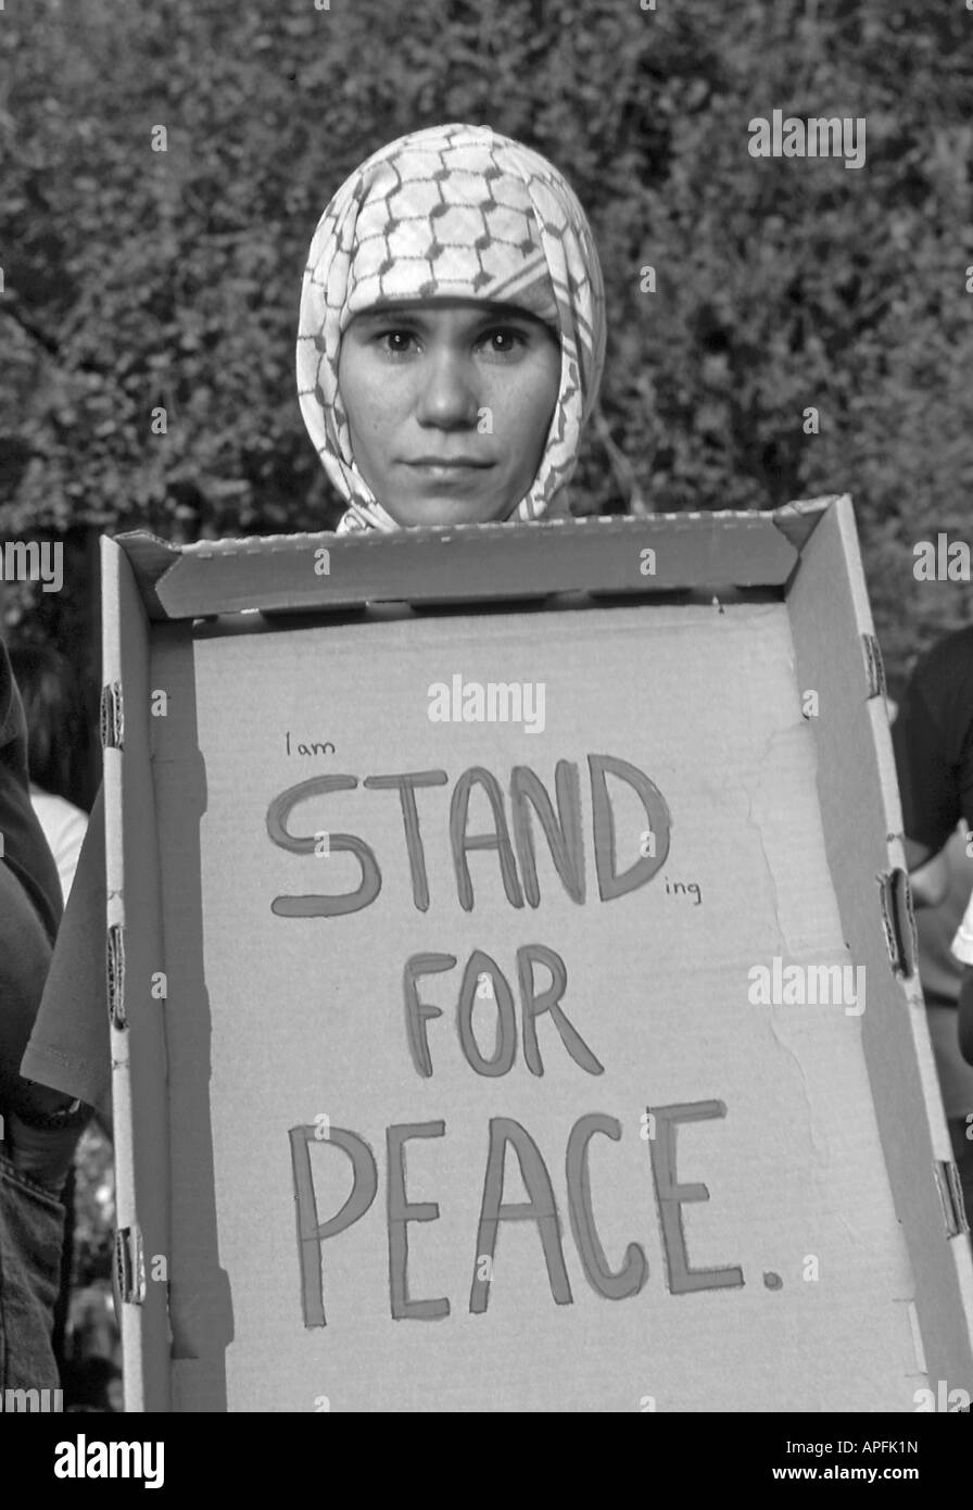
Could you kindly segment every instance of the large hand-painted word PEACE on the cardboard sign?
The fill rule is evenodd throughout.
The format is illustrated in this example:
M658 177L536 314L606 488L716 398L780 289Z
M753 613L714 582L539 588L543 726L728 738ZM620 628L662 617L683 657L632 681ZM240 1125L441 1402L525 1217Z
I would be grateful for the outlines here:
M670 1294L689 1294L701 1290L727 1290L744 1285L744 1271L738 1265L724 1268L691 1268L683 1232L682 1206L691 1202L709 1200L709 1190L700 1181L680 1185L676 1176L676 1129L682 1122L700 1122L724 1117L721 1101L694 1101L685 1105L653 1107L656 1137L650 1149L652 1179L665 1252L665 1268ZM437 1321L451 1312L447 1296L415 1299L409 1293L409 1223L437 1222L439 1205L434 1200L410 1202L406 1191L406 1145L415 1139L440 1139L447 1134L445 1122L409 1122L386 1128L386 1232L389 1253L389 1306L394 1320ZM649 1279L649 1262L638 1243L629 1243L618 1268L612 1270L600 1244L591 1202L591 1179L588 1169L588 1145L600 1134L617 1143L622 1139L622 1123L602 1111L590 1111L578 1117L567 1137L564 1173L567 1184L567 1210L570 1228L587 1282L603 1300L628 1300L637 1296ZM347 1232L370 1210L379 1191L379 1167L376 1157L358 1132L347 1128L330 1128L326 1142L317 1137L317 1128L296 1126L290 1129L291 1163L294 1170L294 1197L297 1202L297 1249L300 1259L302 1308L306 1327L327 1326L324 1314L324 1243ZM351 1191L344 1205L324 1222L318 1217L314 1191L311 1149L335 1148L351 1166ZM526 1200L504 1200L504 1169L507 1151L516 1154L520 1167ZM573 1294L564 1264L564 1244L554 1185L540 1148L513 1117L490 1117L486 1172L480 1222L471 1250L469 1312L481 1315L489 1305L490 1290L496 1285L496 1240L504 1222L534 1222L540 1250L548 1271L551 1294L558 1306L573 1305ZM483 1259L489 1262L484 1264ZM511 1288L516 1279L511 1279Z

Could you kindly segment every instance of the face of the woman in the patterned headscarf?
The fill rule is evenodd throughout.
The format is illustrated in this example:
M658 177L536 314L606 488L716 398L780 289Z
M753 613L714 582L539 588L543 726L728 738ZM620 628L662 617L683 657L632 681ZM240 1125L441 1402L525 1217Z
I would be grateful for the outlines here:
M471 299L367 310L338 355L355 462L401 525L507 518L537 476L560 384L549 326Z

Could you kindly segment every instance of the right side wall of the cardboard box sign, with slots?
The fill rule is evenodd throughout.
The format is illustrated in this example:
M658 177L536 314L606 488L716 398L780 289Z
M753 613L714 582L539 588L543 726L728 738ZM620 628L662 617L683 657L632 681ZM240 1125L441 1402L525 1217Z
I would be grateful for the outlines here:
M875 1016L875 1007L866 1006L861 1034L886 1164L916 1280L914 1296L902 1299L916 1305L932 1377L946 1379L950 1389L973 1392L973 1258L914 968L884 673L851 498L840 497L827 510L803 553L801 565L806 562L813 563L815 571L807 578L797 574L787 602L800 684L816 687L822 704L821 716L812 723L819 747L828 864L855 962L866 963L866 980L872 971L890 971L890 992L882 992L882 1000L890 995L901 1004L901 1015L893 1010L886 1021ZM821 596L822 584L828 589L827 601ZM815 633L809 633L812 627ZM834 654L834 646L849 639L861 646L860 675L852 681L839 676ZM861 835L849 832L849 824L852 829L860 826ZM872 840L873 834L878 841ZM908 1136L904 1136L904 1105L914 1105L917 1113ZM959 1318L965 1318L965 1335L956 1326ZM922 1373L919 1365L917 1373Z

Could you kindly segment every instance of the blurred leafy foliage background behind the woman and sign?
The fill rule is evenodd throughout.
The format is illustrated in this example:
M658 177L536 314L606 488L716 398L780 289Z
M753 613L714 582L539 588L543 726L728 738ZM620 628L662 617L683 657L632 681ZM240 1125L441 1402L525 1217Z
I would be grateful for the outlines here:
M0 584L0 624L51 639L92 710L100 532L336 522L294 391L305 254L365 156L444 121L539 148L591 216L609 346L576 512L851 491L893 693L968 621L968 586L911 568L938 532L973 544L973 14L644 3L8 0L0 541L62 541L66 584ZM775 109L863 116L864 166L753 159ZM80 1409L116 1379L110 1178L92 1132L63 1318Z

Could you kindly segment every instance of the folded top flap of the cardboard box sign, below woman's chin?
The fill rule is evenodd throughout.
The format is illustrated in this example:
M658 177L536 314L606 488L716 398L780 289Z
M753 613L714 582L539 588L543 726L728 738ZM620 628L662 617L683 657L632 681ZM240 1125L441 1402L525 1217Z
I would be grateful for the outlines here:
M783 589L821 501L777 512L474 524L394 535L272 535L166 547L121 535L149 618L299 613L365 602L475 602L554 593ZM801 513L804 510L804 513ZM584 539L584 551L576 542ZM798 544L795 544L798 542ZM652 571L644 551L653 550Z

